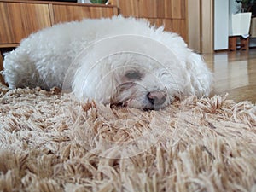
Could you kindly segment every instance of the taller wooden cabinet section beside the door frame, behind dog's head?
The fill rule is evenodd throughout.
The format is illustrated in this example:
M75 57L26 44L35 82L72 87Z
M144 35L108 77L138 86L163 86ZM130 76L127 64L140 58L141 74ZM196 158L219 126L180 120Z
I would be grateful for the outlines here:
M145 18L166 31L177 32L188 42L188 0L113 0L119 14Z

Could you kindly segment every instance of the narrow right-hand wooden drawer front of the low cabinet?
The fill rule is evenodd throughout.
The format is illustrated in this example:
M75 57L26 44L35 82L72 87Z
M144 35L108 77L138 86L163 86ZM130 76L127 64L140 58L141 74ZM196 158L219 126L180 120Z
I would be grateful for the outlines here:
M118 9L115 7L96 6L73 6L73 5L53 5L55 23L72 20L83 20L84 18L101 18L117 15Z

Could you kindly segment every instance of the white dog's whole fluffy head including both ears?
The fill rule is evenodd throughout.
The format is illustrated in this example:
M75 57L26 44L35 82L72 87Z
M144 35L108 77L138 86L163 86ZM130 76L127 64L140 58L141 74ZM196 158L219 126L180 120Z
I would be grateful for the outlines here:
M170 38L172 47L133 35L92 44L71 65L67 84L72 81L73 92L82 101L142 109L165 108L175 97L207 96L212 75L201 56L181 38L162 35Z

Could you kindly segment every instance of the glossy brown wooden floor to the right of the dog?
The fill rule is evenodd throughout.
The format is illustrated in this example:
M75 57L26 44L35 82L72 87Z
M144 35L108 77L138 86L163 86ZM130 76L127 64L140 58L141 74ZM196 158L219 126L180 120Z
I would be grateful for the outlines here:
M218 52L204 58L214 73L212 95L228 93L236 102L256 103L256 49Z

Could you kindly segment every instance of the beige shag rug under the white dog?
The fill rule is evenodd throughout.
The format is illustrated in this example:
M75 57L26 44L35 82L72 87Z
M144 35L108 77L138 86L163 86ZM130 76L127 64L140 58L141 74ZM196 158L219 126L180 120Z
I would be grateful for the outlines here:
M143 112L2 85L0 103L0 191L256 191L251 102Z

